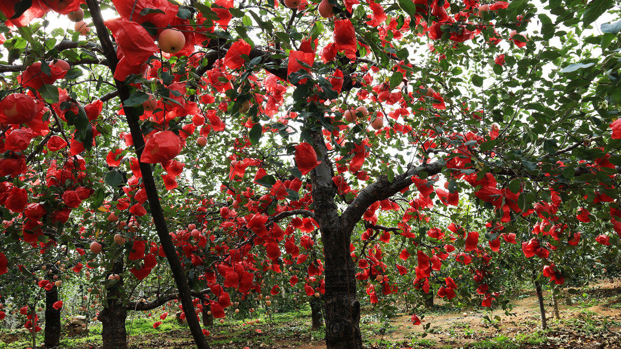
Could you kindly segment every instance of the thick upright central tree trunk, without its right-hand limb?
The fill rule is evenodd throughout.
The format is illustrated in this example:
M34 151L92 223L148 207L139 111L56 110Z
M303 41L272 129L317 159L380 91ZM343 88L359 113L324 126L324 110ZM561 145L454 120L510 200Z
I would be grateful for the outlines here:
M351 231L356 222L338 214L332 182L333 169L321 132L311 132L322 163L311 171L315 216L324 242L325 343L327 349L361 349L360 302L356 298L356 273L350 255ZM352 224L353 223L353 224Z

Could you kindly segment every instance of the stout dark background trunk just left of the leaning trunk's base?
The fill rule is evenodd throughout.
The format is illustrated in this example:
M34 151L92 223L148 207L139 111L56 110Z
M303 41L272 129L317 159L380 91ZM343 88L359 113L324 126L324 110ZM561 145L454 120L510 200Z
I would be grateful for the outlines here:
M114 262L111 274L121 274L123 271L123 260L118 258ZM127 319L127 309L120 300L119 283L107 288L107 306L99 312L97 319L101 321L101 340L102 349L126 349L127 330L125 329L125 319ZM105 305L105 304L104 304Z

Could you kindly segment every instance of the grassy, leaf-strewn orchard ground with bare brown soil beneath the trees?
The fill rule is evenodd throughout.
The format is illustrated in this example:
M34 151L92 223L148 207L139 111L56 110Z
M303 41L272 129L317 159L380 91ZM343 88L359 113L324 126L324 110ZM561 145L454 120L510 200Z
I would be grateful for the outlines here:
M489 314L473 309L464 316L462 309L441 300L425 314L422 325L412 325L404 304L396 316L378 317L369 306L363 309L361 330L366 348L621 348L621 279L602 280L583 288L563 291L559 298L560 320L553 319L550 293L545 293L547 330L540 330L537 297L534 292L517 292L511 303L512 315L500 310ZM484 321L486 315L493 323ZM501 320L496 320L496 315ZM261 314L261 323L240 320L215 324L210 330L212 348L325 348L324 329L311 330L311 310L307 303L292 312ZM129 319L129 348L186 349L194 342L187 327L170 316L157 329L152 318ZM425 334L424 326L430 322ZM0 348L29 347L24 330L3 329ZM38 341L39 342L39 341ZM101 347L101 324L89 325L89 333L61 339L61 348L97 349Z

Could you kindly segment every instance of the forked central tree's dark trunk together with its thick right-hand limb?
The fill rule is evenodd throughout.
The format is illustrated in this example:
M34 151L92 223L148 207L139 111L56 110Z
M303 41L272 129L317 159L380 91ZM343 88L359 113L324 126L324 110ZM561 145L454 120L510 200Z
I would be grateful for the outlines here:
M391 181L380 176L362 189L342 215L338 214L333 184L334 170L325 145L321 127L307 127L314 147L319 150L320 165L311 171L315 220L324 243L325 271L325 343L327 349L361 349L360 302L356 297L355 266L350 255L351 233L363 213L376 201L387 199L412 184L412 176L420 171L439 173L443 162L411 165Z

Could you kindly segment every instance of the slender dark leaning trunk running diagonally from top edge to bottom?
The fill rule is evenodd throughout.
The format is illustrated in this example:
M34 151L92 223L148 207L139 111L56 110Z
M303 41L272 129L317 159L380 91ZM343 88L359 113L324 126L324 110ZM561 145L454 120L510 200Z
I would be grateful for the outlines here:
M110 39L110 35L108 34L106 25L104 25L99 4L97 3L97 0L86 0L86 4L88 5L89 11L91 11L93 24L97 29L97 37L99 38L103 52L106 54L112 73L114 73L118 60L114 46L112 45L112 41ZM117 79L114 80L114 83L119 90L119 97L121 101L126 101L130 96L127 84ZM138 164L140 165L140 171L142 172L143 184L145 186L145 190L147 191L147 199L151 209L153 222L155 223L155 230L160 238L160 243L166 255L166 260L168 260L168 265L170 265L170 270L175 278L175 284L179 290L181 305L183 306L183 310L186 315L188 315L186 316L186 319L188 319L188 327L192 333L196 347L198 349L209 349L209 344L207 344L207 340L202 334L201 324L199 323L197 317L194 316L194 304L192 302L193 297L188 286L188 279L186 278L183 266L181 266L181 262L177 256L173 240L168 233L164 212L161 209L160 197L158 196L157 187L155 186L155 179L153 179L153 171L148 163L140 161L142 150L145 147L145 140L142 137L142 130L140 129L140 122L138 119L139 116L137 115L138 109L134 107L127 107L123 104L123 111L125 112L127 124L129 124L132 140L134 141Z

